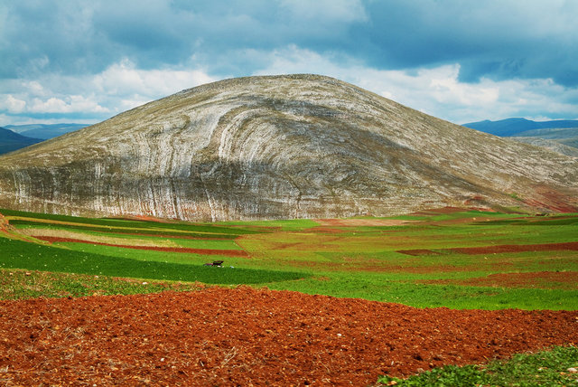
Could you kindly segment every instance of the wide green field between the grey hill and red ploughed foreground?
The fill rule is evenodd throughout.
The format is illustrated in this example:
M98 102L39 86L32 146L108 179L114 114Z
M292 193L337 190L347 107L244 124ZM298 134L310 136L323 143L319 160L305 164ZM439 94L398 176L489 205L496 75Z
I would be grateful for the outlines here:
M366 225L324 227L313 220L187 223L0 213L16 233L74 232L75 239L125 238L156 241L159 246L170 242L177 248L245 250L248 255L135 250L89 242L34 243L5 236L0 238L4 269L249 284L415 307L578 309L578 286L573 282L578 275L576 250L476 255L452 250L576 242L575 213L433 211L382 219L399 221L392 225L372 225L374 218L366 217L358 218L367 220ZM225 268L203 266L212 260L224 260ZM536 273L537 278L528 281L527 273ZM484 282L499 274L524 280Z

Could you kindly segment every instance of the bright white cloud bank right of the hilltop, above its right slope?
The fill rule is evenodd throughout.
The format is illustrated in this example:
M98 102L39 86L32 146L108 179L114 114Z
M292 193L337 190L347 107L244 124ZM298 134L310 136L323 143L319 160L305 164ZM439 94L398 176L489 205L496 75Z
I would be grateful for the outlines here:
M318 73L349 81L410 108L455 123L518 117L520 112L543 118L578 118L578 107L560 100L575 100L578 90L551 79L459 80L460 65L442 65L417 71L386 71L356 61L339 63L331 56L294 45L270 52L266 67L256 74ZM528 117L529 118L529 117Z

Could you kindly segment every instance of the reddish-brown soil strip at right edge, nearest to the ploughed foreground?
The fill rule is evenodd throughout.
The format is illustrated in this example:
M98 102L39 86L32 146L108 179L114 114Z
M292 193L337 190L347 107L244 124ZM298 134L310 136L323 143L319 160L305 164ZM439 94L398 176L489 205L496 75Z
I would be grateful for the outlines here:
M578 289L578 272L539 271L532 273L499 273L478 278L428 279L419 282L493 288Z

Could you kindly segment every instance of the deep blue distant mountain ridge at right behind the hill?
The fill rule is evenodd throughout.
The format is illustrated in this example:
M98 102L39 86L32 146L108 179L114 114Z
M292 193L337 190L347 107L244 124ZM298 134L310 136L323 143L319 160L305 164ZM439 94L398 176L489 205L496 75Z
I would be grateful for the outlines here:
M470 122L463 126L499 137L510 137L519 136L522 132L534 129L578 128L578 120L532 121L526 118L508 118L499 121Z

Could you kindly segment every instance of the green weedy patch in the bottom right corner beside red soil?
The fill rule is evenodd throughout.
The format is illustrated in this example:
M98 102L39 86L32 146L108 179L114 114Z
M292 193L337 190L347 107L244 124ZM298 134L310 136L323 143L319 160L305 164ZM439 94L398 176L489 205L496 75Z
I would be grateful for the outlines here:
M400 379L381 376L378 383L396 386L544 386L578 385L578 347L555 346L536 354L516 354L486 365L447 365ZM570 370L570 371L569 371Z

